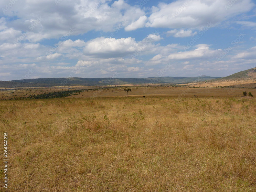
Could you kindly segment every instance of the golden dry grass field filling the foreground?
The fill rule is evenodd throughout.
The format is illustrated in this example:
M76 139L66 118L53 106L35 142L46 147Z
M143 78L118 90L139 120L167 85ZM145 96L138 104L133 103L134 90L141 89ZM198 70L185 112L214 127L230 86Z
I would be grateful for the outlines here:
M235 97L0 101L8 188L255 191L255 110Z

